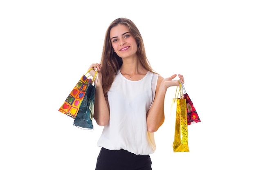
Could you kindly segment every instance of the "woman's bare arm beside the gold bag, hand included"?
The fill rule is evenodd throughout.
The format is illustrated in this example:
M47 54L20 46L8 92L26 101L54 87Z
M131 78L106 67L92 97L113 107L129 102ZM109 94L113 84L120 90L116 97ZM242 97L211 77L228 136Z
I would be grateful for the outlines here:
M177 75L172 75L168 78L163 78L159 75L157 80L157 88L155 99L147 113L147 129L149 132L156 132L164 123L164 98L168 87L180 86L179 80L172 80ZM178 75L180 81L184 83L182 75Z

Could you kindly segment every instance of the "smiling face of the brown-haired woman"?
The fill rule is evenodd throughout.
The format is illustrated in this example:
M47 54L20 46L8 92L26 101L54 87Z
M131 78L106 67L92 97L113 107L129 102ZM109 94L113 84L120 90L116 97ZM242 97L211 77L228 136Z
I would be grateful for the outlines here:
M121 58L136 56L138 50L135 38L125 25L118 24L110 30L110 40L112 47Z

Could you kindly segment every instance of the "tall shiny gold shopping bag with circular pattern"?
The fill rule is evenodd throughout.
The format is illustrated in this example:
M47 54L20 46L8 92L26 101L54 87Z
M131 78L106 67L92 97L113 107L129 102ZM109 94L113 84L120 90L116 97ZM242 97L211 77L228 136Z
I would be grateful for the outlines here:
M186 99L184 99L183 96L181 82L180 86L176 89L175 98L173 102L176 102L177 104L173 152L189 152Z

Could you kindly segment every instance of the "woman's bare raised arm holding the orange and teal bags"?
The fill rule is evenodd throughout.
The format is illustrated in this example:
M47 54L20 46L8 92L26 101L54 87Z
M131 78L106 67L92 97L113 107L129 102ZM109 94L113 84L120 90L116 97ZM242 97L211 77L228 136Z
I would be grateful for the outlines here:
M93 118L99 126L106 126L109 122L109 105L108 97L104 96L103 88L101 84L102 75L101 75L101 64L92 64L90 68L94 68L89 73L94 76L96 69L98 70L98 77L95 79L96 88L95 88L95 99L94 99L94 115ZM89 69L90 69L89 68Z

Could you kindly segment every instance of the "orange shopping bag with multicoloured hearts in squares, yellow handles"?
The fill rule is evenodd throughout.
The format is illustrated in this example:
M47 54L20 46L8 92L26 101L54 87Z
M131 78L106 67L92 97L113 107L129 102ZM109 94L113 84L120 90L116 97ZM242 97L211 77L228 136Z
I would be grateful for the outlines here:
M90 70L92 70L92 69L93 68L91 68ZM61 107L58 109L58 111L75 119L76 114L79 111L79 107L81 106L81 103L85 96L85 93L86 93L89 85L92 85L92 83L94 82L94 79L97 75L97 71L96 71L96 74L94 75L94 77L89 78L90 75L88 75L88 73L90 70L88 70L88 72L85 73L85 75L83 75L81 77L81 79L79 79L76 86L73 88L73 90L67 96L67 98L65 99L65 102L61 105Z

